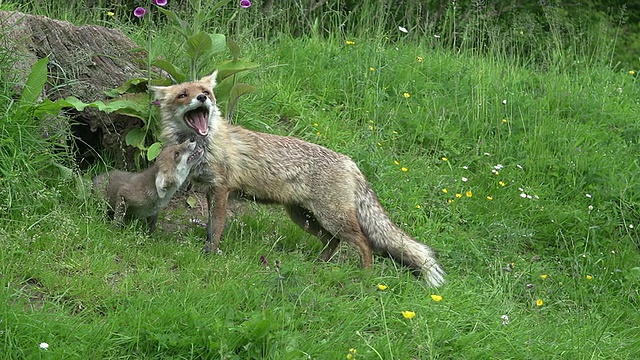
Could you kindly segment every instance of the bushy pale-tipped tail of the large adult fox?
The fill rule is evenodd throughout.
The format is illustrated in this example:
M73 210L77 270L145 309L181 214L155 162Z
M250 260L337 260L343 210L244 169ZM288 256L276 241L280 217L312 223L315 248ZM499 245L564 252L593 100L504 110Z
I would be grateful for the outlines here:
M366 182L361 184L358 192L358 221L374 251L410 267L432 286L444 284L444 271L437 263L434 251L391 221Z

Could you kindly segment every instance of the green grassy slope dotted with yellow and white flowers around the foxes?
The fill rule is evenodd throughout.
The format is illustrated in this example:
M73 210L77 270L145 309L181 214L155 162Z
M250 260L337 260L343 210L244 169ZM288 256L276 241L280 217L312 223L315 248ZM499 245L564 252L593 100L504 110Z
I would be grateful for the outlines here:
M363 271L348 246L316 262L319 242L275 207L239 211L220 256L201 253L204 229L188 225L186 210L165 213L180 225L163 221L153 237L140 224L113 227L94 200L43 173L64 149L13 117L5 90L5 358L640 353L635 76L606 59L525 66L500 49L453 52L375 34L281 36L243 50L262 67L246 78L258 91L235 121L350 155L392 219L438 250L447 284L428 288L383 258Z

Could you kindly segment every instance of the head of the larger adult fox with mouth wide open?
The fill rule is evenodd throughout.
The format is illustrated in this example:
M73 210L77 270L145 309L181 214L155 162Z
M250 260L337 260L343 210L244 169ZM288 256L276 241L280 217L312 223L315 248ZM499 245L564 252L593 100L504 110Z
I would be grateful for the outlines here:
M160 102L163 133L178 142L185 133L207 136L220 119L213 88L218 71L198 81L171 86L152 86Z

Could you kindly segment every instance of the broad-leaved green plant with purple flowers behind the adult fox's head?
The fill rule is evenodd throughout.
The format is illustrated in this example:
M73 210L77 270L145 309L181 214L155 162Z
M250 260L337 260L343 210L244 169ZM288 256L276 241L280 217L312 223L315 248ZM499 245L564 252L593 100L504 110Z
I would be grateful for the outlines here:
M78 111L90 106L106 113L115 112L141 119L145 125L140 129L132 129L126 135L125 142L127 145L139 149L142 155L146 154L148 160L153 160L162 148L162 144L157 139L160 132L158 110L152 106L153 97L149 92L149 86L194 81L217 69L219 85L216 87L216 98L219 103L226 102L227 114L231 119L238 99L255 90L255 87L239 82L240 77L247 71L258 67L258 64L254 62L241 59L238 44L224 34L208 33L201 30L204 23L203 16L206 12L202 11L200 1L190 1L196 14L191 23L182 20L176 12L165 8L166 0L153 0L152 2L155 5L154 8L165 15L173 29L184 38L180 52L186 55L187 65L181 68L181 64L173 63L164 58L151 59L149 52L147 77L129 79L118 88L106 91L106 95L111 100L84 103L75 97L68 97L58 102L60 105L73 107ZM229 0L219 1L207 12L215 12L227 3ZM241 4L241 7L248 6ZM147 10L141 7L134 11L134 15L140 19L146 14ZM151 20L147 21L147 25L150 25L150 22ZM150 41L148 46L151 47ZM216 62L216 59L227 49L231 53L231 59ZM151 145L147 146L149 143Z

